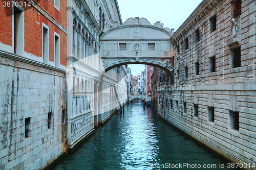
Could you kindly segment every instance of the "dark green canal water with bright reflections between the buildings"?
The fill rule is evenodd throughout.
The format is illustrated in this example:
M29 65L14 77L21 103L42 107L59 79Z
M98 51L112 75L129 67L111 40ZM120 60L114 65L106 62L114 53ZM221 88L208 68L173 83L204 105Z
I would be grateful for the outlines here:
M163 122L150 108L144 110L141 103L134 102L124 107L123 114L114 114L51 169L199 169L199 166L232 169L219 156Z

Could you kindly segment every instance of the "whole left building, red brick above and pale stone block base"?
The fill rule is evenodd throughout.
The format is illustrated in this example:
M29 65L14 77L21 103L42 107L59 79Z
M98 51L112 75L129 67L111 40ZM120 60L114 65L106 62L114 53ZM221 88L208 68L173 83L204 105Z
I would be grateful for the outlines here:
M67 4L6 2L0 3L0 169L40 169L67 150L67 48L60 50L67 46Z

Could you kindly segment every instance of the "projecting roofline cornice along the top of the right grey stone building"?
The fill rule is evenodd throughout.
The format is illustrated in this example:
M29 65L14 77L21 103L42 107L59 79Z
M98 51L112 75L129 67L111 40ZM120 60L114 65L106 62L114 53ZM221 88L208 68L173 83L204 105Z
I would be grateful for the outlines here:
M223 0L204 0L199 6L189 15L189 17L182 23L178 30L174 33L171 41L175 44L179 42L184 35L191 29L195 28L211 10L217 7Z

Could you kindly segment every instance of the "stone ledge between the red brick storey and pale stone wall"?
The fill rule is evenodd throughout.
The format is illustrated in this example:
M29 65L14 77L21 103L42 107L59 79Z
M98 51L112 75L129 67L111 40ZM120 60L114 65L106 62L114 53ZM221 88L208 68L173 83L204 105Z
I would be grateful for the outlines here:
M51 65L47 65L45 63L34 61L4 51L0 51L0 64L42 72L45 74L50 74L59 77L66 77L66 70L64 69L60 69Z

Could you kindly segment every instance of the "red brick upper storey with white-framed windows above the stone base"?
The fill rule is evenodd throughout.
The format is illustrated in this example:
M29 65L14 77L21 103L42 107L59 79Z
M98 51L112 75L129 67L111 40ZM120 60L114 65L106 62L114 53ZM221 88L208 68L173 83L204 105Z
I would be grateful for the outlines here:
M28 2L0 3L0 50L67 66L67 1Z

